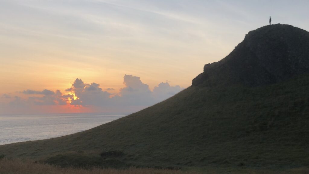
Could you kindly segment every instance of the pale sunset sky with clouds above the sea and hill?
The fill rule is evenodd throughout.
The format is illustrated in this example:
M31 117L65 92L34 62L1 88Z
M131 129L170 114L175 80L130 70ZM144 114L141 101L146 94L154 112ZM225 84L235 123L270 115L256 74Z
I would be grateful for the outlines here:
M309 1L0 0L0 114L132 113Z

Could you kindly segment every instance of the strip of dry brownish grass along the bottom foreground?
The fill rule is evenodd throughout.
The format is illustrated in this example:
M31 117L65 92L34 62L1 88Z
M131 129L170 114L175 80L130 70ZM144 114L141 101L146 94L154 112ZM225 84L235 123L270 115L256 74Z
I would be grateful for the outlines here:
M223 172L224 171L224 172ZM102 168L73 168L57 167L49 164L34 163L32 161L21 160L0 160L0 174L217 174L217 173L237 173L237 174L308 174L308 168L296 168L289 170L252 170L252 169L186 169L186 170L168 170L155 168L134 168L127 169L102 169Z

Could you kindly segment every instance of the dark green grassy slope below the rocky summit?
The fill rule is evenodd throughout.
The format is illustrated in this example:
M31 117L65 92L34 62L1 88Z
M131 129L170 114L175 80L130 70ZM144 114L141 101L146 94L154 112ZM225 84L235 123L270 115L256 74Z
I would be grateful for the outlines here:
M108 124L3 145L0 154L86 168L308 167L308 88L309 75L251 88L192 86Z

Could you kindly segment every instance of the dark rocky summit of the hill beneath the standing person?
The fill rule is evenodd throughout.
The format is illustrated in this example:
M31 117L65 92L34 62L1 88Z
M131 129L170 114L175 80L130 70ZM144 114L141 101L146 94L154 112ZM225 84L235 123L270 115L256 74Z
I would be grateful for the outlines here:
M309 33L286 24L250 31L226 58L206 64L196 86L272 84L309 71Z

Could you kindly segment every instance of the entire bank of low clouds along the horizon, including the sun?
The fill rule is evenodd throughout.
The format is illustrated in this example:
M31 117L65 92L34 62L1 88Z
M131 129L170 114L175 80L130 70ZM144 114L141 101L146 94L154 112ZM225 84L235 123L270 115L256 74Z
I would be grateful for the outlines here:
M100 84L92 82L85 83L82 79L75 79L72 86L65 90L63 94L60 90L51 91L44 89L36 91L27 89L20 93L28 98L19 96L10 97L2 95L2 100L7 99L10 107L29 107L29 106L55 106L55 105L79 105L84 107L100 108L100 111L114 112L134 112L142 108L149 107L155 103L163 101L183 90L180 86L171 86L168 82L162 82L155 86L153 91L144 84L140 77L125 75L123 80L124 87L119 94L112 94L108 91L114 90L107 88L103 90ZM69 94L67 94L69 93ZM4 106L3 103L0 105Z

